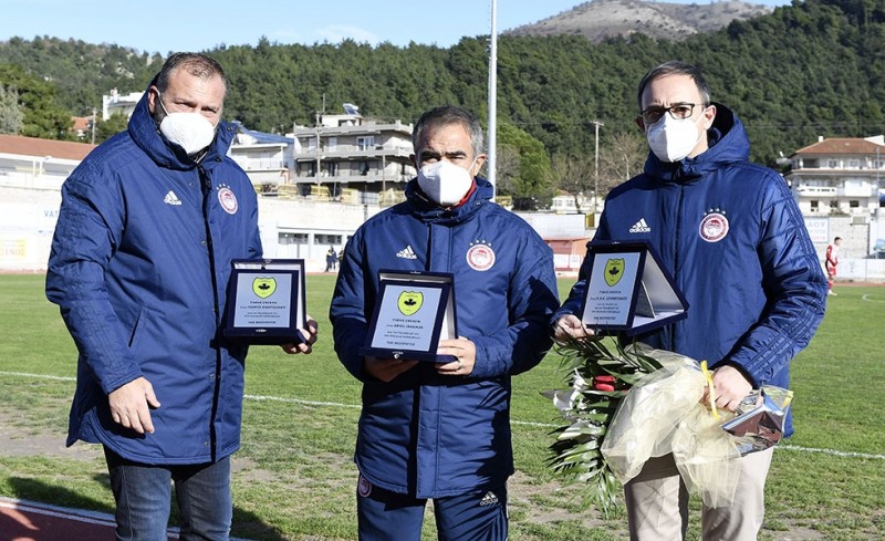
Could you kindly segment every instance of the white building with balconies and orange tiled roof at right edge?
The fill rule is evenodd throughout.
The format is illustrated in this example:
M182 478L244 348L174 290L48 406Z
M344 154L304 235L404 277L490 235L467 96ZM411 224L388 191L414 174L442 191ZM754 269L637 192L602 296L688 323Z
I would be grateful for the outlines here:
M790 156L784 175L802 215L865 222L885 207L885 137L823 138Z

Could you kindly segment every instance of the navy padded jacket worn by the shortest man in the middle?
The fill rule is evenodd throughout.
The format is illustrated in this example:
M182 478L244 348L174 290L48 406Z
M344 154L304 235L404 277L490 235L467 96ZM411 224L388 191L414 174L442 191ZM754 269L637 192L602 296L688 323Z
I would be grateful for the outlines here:
M418 498L481 491L513 472L510 376L535 366L559 302L550 248L477 179L452 210L415 180L407 200L365 222L347 242L330 309L335 351L363 382L355 461L373 485ZM378 270L451 272L458 333L473 341L469 377L419 363L391 383L363 371Z

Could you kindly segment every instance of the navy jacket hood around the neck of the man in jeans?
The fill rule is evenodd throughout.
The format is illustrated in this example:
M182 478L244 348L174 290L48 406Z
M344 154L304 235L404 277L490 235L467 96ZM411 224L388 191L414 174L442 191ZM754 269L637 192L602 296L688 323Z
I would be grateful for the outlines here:
M147 90L156 84L157 77L155 76L147 85ZM167 169L192 169L197 163L187 155L184 148L174 145L166 141L159 133L150 110L147 106L148 92L145 90L142 100L135 106L135 111L129 118L127 131L132 136L135 144L138 145L145 154L147 154L154 163ZM237 133L236 126L231 123L219 122L216 128L216 136L212 144L209 145L209 150L202 163L207 163L216 157L222 157L227 154L233 134Z

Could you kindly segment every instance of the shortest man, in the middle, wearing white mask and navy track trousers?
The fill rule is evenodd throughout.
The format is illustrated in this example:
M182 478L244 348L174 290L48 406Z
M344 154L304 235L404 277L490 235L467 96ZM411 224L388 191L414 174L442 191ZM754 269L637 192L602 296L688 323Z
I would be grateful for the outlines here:
M482 129L467 111L426 112L412 136L418 168L406 201L347 242L330 308L335 351L363 383L355 461L360 539L419 540L434 500L439 539L507 539L510 376L550 347L559 305L553 256L477 177ZM450 363L358 354L378 299L378 271L454 274L458 333Z

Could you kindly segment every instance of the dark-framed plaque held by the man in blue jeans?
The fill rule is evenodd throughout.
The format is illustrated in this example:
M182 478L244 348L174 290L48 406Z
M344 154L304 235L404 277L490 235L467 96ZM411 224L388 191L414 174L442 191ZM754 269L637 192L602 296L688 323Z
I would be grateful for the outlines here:
M304 342L304 260L239 259L228 284L225 336L250 344Z

